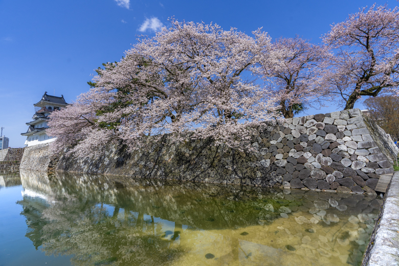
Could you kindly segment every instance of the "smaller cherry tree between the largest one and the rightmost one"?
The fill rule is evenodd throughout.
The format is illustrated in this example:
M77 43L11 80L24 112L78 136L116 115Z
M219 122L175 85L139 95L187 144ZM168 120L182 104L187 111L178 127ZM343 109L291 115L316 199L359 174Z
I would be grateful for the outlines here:
M273 49L283 51L283 63L265 68L265 77L270 77L270 86L278 94L280 112L292 118L298 107L312 106L324 96L321 81L330 53L326 46L299 36L279 38L273 42Z

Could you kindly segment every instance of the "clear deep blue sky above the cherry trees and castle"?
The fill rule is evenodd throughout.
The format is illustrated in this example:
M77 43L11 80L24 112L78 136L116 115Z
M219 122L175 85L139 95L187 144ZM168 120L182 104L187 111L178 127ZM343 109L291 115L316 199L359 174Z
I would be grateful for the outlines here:
M119 61L138 34L154 34L168 17L213 21L224 29L251 33L259 27L273 38L296 34L320 42L330 24L360 7L389 1L134 1L0 0L0 127L11 147L22 147L33 104L45 91L67 102L86 92L94 69ZM355 107L363 108L361 102ZM336 106L307 114L333 112Z

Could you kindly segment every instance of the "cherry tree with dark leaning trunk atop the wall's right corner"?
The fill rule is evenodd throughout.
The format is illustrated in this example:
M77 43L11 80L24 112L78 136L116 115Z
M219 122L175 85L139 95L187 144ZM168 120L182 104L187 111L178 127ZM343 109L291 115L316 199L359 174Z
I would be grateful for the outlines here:
M350 14L331 26L323 41L335 49L334 65L326 72L330 93L353 108L361 96L395 91L399 84L399 9L385 6Z

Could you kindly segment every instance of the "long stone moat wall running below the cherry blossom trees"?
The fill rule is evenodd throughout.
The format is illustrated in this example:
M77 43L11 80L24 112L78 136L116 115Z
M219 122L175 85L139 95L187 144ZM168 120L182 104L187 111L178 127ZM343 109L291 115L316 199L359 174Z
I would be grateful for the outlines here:
M213 146L211 140L172 144L165 135L162 141L134 152L114 146L95 159L62 156L56 169L135 178L375 193L380 174L393 172L396 151L390 142L383 129L365 119L359 109L351 109L254 128L255 153ZM41 149L30 148L35 152ZM27 159L29 154L32 152L26 152ZM50 159L35 168L46 170L45 161ZM32 163L24 162L24 168L34 169L26 168Z

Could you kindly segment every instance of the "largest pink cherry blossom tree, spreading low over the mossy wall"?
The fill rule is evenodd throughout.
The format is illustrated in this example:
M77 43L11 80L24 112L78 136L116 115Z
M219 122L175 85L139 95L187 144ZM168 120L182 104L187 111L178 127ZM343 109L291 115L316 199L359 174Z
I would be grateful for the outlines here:
M278 97L257 82L262 66L278 65L282 57L267 33L170 23L96 70L91 90L51 115L55 151L73 146L70 152L93 156L118 140L133 149L149 136L168 133L182 141L187 132L243 148L249 126L279 116Z

